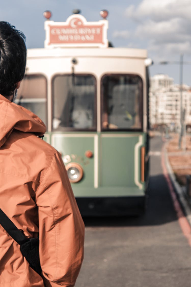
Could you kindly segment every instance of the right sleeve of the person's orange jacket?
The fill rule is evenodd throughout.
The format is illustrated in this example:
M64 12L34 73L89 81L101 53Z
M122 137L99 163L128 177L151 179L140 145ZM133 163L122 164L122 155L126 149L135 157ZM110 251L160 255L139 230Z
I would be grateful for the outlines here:
M55 152L36 191L45 286L74 286L83 260L84 223L62 158Z

